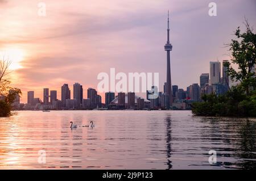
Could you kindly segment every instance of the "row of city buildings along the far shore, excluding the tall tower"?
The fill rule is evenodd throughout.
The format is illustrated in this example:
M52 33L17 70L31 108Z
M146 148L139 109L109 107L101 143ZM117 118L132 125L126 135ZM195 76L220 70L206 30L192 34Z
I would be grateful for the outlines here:
M181 89L179 87L179 85L172 85L172 92L171 92L172 103L174 103L174 102L177 103L177 101L179 102L180 100L184 100L184 99L200 101L201 94L210 94L212 92L215 92L217 95L224 94L228 90L229 85L232 84L232 81L230 80L229 76L226 75L226 68L224 66L224 62L226 62L226 61L228 61L228 60L222 60L222 64L219 61L216 61L216 62L210 61L209 62L209 73L201 73L201 75L199 77L200 83L191 83L190 85L187 86L187 90ZM254 70L254 71L256 71L256 70ZM168 95L166 86L167 86L167 83L165 82L163 85L163 87L164 87L163 92L158 91L158 87L156 87L156 86L152 86L151 90L153 90L155 87L154 90L159 93L159 98L163 99L164 102L167 102L167 103L163 103L163 105L170 106L170 96ZM108 92L104 92L105 97L103 98L103 101L102 101L102 96L99 95L98 91L96 89L93 89L92 87L88 87L87 96L85 97L85 96L83 96L84 91L83 91L82 85L80 85L80 83L78 83L78 82L73 84L73 91L72 91L73 96L71 96L71 91L72 91L72 89L69 89L68 84L64 83L63 86L61 86L61 92L60 92L61 100L59 100L59 99L57 99L57 91L56 90L50 90L50 95L49 95L49 88L44 88L43 89L43 101L41 100L41 102L43 103L44 106L46 106L49 103L51 105L53 105L53 100L61 101L62 102L61 104L63 104L63 106L65 107L67 99L71 100L71 101L73 101L74 99L77 101L80 100L78 102L78 104L81 104L81 105L87 104L87 103L83 102L85 100L85 101L89 101L90 102L89 104L92 105L93 108L96 108L98 106L97 103L100 103L100 104L104 103L104 104L106 104L105 106L108 107L108 104L110 102L112 102L112 100L114 100L115 98L118 99L118 101L117 101L118 106L124 106L124 103L123 103L125 101L124 98L125 98L125 96L128 96L127 108L129 108L129 105L130 105L129 102L131 102L131 99L129 99L129 96L131 94L133 94L133 97L135 97L135 92L108 91ZM27 92L27 104L31 104L33 102L33 99L35 99L36 103L40 102L40 98L34 98L34 93L35 93L34 91ZM118 96L115 97L115 94L117 94ZM155 104L159 104L159 98L156 98L155 100L150 99L150 98L148 98L149 94L150 94L150 90L147 90L146 99L150 100L150 102L152 102L151 106L153 105L152 107L154 107ZM167 94L168 96L165 96L165 94ZM96 97L94 97L94 95ZM122 96L122 98L120 98L119 95ZM138 95L139 95L139 93L138 93ZM163 96L163 98L161 98L161 96ZM97 100L98 98L100 98L100 102L99 102L99 100ZM141 98L144 100L144 96L138 96L138 98ZM122 103L119 103L121 100L122 100ZM132 106L134 106L134 105L132 104Z

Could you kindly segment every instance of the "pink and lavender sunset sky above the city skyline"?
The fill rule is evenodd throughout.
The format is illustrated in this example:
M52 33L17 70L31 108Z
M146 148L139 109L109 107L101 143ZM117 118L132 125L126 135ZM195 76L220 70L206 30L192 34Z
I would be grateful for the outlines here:
M46 3L46 16L38 3ZM217 16L208 15L209 2ZM166 81L167 10L170 10L172 85L199 83L209 61L230 59L225 48L246 16L256 28L255 0L0 0L0 53L13 60L11 80L23 92L73 83L97 88L100 72L158 72ZM72 92L71 92L72 93ZM84 91L86 98L86 91ZM104 100L103 100L104 102Z

